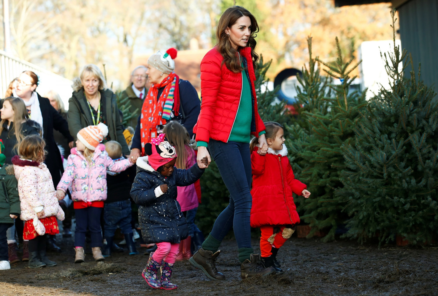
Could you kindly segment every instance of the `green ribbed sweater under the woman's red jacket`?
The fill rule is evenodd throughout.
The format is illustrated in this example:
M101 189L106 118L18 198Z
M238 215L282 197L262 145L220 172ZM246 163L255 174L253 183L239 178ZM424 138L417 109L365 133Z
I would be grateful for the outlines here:
M242 68L243 68L242 63ZM231 129L228 141L249 143L251 139L251 120L252 120L252 98L251 84L248 81L246 70L242 71L242 93L240 95L239 109L237 109L236 118L234 119L233 128ZM265 134L261 131L259 136ZM207 142L198 141L197 146L208 147Z

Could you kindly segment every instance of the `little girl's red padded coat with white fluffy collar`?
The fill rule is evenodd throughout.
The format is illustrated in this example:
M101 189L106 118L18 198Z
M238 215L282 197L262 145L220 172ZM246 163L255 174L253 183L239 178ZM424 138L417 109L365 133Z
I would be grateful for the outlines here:
M251 227L300 222L292 192L302 195L307 186L295 179L286 155L285 144L280 151L269 148L264 156L257 149L252 152Z

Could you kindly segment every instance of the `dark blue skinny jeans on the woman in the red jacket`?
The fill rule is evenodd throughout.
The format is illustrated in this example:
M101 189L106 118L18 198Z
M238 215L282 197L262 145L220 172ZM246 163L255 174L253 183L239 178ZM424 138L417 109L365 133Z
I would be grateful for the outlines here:
M208 150L219 168L230 204L219 214L211 235L222 241L233 226L238 248L251 248L251 153L249 143L210 139Z

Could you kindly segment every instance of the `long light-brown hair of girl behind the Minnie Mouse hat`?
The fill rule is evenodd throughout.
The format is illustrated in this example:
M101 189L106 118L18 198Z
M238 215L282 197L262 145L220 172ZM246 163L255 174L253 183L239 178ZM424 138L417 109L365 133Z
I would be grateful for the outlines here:
M186 128L178 121L170 121L163 128L163 133L166 134L167 141L175 147L177 151L177 169L187 169L188 152L186 145L190 143L190 136Z

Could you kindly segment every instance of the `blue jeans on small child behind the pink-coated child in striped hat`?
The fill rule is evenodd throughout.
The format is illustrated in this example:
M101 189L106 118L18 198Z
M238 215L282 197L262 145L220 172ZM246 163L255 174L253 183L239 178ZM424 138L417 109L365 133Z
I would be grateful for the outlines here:
M117 225L122 233L132 233L131 218L130 199L106 203L103 208L105 237L113 237Z

